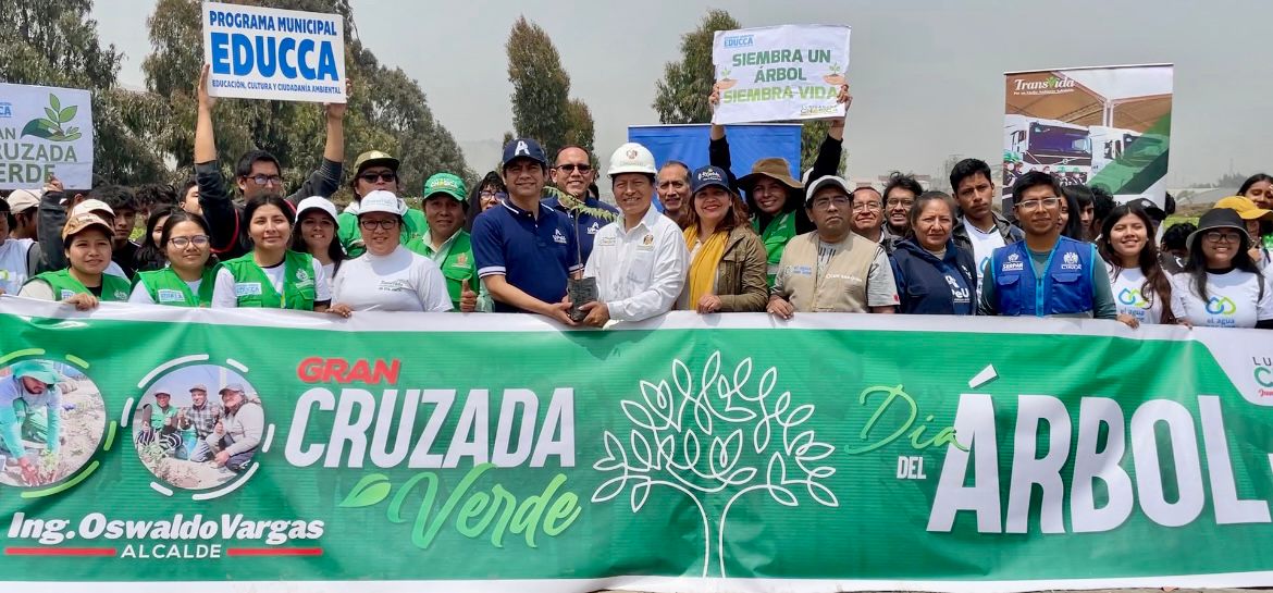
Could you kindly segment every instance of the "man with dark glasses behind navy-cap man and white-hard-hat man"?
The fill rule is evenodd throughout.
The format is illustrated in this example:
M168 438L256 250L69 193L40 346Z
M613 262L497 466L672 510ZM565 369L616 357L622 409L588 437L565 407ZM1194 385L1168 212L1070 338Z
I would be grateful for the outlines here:
M592 171L592 158L580 146L563 146L552 164L552 185L565 196L551 196L544 204L574 219L579 235L579 261L587 262L597 232L619 219L619 210L597 200L589 192L597 173Z

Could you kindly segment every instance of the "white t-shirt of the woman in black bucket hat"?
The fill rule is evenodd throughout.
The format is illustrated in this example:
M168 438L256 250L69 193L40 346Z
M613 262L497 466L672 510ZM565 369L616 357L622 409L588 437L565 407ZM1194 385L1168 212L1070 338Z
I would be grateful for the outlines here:
M1260 298L1259 276L1232 270L1207 274L1207 300L1193 289L1193 276L1171 276L1171 312L1178 319L1189 319L1199 327L1255 327L1255 322L1273 319L1273 284L1264 276L1264 298Z

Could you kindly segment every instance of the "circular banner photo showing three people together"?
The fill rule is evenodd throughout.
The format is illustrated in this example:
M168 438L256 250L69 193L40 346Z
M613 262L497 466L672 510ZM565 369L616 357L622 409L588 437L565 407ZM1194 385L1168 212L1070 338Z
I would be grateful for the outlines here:
M264 438L261 396L225 366L202 364L160 375L132 412L141 464L185 490L220 486L243 473Z

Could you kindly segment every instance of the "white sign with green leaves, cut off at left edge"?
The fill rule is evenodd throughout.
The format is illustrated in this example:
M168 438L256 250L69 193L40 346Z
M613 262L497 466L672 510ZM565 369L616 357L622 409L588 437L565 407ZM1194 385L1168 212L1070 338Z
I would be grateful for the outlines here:
M93 185L92 95L0 83L0 190L39 188L48 176Z

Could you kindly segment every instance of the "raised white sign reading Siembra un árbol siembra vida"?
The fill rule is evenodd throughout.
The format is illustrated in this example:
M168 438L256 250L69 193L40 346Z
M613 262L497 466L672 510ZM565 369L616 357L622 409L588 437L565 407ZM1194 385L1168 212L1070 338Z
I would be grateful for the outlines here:
M721 104L714 123L844 116L849 28L822 24L718 31L712 45Z

